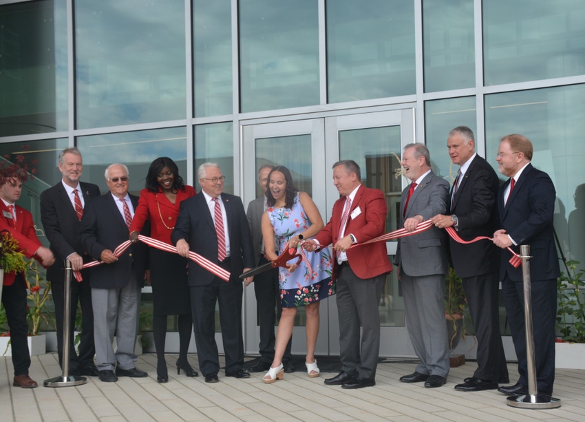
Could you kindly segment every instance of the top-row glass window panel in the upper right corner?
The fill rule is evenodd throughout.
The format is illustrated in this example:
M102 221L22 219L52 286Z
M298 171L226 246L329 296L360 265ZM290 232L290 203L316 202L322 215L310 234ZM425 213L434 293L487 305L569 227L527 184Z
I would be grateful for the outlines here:
M483 1L485 85L585 73L585 2Z

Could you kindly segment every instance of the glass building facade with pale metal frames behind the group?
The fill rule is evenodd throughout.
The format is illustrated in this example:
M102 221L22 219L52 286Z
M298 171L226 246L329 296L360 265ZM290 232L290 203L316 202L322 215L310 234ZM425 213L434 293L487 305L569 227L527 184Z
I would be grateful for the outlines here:
M585 262L582 112L582 0L0 1L0 153L34 172L21 205L39 229L58 152L76 146L83 180L102 191L111 162L129 167L138 193L150 162L169 156L193 185L201 162L220 163L244 205L260 166L286 165L323 220L338 198L331 166L352 158L385 192L391 231L402 147L425 143L451 182L447 133L467 125L496 168L502 136L532 140L557 190L560 251ZM251 287L244 302L253 353ZM412 355L395 275L380 312L382 355ZM339 352L336 315L323 302L318 354ZM302 313L297 325L293 352Z

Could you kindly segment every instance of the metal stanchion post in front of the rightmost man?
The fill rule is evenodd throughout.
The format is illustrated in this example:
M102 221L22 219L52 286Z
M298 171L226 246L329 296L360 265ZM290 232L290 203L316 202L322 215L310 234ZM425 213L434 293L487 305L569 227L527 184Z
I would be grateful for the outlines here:
M522 279L524 281L524 326L526 327L526 366L528 370L528 394L508 397L509 406L524 409L560 408L560 399L538 394L536 386L536 363L534 359L534 333L532 328L532 299L530 282L530 246L520 246L522 255Z

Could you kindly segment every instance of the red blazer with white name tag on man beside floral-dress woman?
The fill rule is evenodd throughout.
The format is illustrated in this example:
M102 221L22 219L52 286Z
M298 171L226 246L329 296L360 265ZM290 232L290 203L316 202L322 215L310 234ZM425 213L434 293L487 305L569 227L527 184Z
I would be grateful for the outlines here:
M344 206L345 197L335 202L329 222L315 236L315 239L321 246L335 244L337 242ZM352 213L358 207L361 212L352 218ZM386 213L386 201L382 191L364 187L362 184L358 188L352 202L348 224L345 226L345 234L352 233L359 243L383 235L386 225ZM376 277L376 275L390 273L392 271L392 264L390 264L386 252L386 242L355 246L347 251L346 254L348 255L348 262L352 270L360 278L372 278ZM337 253L334 251L332 279L337 279L338 274Z

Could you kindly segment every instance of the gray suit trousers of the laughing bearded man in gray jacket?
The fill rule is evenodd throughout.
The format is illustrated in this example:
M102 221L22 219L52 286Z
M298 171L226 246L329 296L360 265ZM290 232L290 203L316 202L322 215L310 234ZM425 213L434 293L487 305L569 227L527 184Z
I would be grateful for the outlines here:
M445 275L411 277L401 273L406 328L421 363L416 372L449 374L449 339L445 321Z

